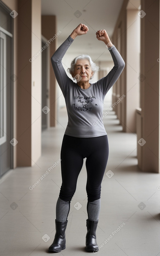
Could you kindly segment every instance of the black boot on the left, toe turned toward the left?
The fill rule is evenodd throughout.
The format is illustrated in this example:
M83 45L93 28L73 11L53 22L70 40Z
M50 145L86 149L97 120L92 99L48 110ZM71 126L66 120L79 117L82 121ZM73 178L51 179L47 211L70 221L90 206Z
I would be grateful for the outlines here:
M65 231L66 231L67 223L68 223L68 220L66 220L66 221L57 221L55 219L56 233L55 233L53 243L48 248L49 252L59 253L61 250L66 249Z

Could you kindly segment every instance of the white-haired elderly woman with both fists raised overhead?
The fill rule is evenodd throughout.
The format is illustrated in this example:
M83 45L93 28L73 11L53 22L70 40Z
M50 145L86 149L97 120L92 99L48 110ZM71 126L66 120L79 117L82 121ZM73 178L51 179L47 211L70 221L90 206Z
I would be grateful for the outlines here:
M49 252L60 252L66 248L67 217L84 158L86 158L87 171L88 215L86 250L98 251L96 229L101 205L101 182L108 161L108 137L101 116L105 95L119 78L125 63L106 30L98 30L96 37L108 47L114 67L106 77L96 83L90 83L97 66L88 55L79 55L71 62L71 67L68 69L76 79L77 83L74 83L62 66L62 58L74 39L85 35L88 30L86 25L79 24L51 58L56 79L66 101L68 124L61 147L62 185L56 203L56 233L48 249ZM97 120L99 121L96 123Z

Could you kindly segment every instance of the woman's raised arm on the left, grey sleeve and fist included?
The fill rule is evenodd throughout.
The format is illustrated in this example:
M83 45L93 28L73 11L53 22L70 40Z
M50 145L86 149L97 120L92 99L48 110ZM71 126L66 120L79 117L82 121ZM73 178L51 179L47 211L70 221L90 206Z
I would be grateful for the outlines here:
M64 96L66 95L70 78L62 66L62 58L76 36L84 35L88 30L86 25L79 24L51 57L54 74Z

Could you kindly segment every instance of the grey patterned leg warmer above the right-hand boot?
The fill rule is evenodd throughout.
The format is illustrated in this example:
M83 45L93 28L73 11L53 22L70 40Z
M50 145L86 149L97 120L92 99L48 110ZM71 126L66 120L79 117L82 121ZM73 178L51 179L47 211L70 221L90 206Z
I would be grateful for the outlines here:
M101 200L95 200L93 202L87 202L87 213L89 220L98 220L100 213Z

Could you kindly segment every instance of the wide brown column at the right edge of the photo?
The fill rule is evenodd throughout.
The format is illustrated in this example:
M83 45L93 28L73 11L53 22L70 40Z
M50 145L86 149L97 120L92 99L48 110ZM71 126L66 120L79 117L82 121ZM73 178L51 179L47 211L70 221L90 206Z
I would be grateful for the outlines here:
M141 0L142 170L159 172L159 0ZM144 16L145 15L145 16ZM143 17L144 16L144 17Z

